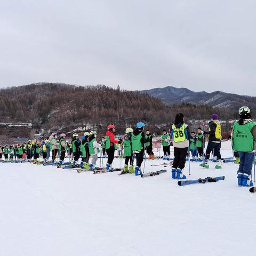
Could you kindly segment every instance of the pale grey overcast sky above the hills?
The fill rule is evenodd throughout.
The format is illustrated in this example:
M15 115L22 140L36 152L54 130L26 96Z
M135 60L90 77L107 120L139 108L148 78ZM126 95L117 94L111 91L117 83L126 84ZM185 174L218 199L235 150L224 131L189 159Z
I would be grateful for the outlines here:
M187 87L256 96L256 1L0 0L0 87Z

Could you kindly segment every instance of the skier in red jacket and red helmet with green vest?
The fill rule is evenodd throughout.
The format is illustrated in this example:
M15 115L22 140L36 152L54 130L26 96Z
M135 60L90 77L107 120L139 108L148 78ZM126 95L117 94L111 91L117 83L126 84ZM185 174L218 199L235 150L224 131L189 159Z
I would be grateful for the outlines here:
M106 152L108 155L108 162L106 165L106 169L113 169L112 163L115 156L115 150L117 149L118 143L122 143L115 139L115 126L113 124L108 125L108 131L106 132Z

